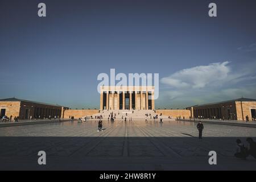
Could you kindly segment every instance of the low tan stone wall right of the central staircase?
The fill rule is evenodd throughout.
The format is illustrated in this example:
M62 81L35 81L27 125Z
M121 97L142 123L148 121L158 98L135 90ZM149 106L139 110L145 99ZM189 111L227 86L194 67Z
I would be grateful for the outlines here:
M162 115L167 115L170 116L171 118L176 118L176 117L185 117L189 118L191 116L191 111L187 109L162 109L162 110L156 110L157 114Z

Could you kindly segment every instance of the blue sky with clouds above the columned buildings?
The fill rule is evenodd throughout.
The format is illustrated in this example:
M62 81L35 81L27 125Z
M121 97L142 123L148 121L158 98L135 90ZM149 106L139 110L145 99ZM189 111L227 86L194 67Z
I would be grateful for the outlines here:
M0 98L98 108L110 68L159 73L156 108L256 98L256 3L210 2L1 0Z

